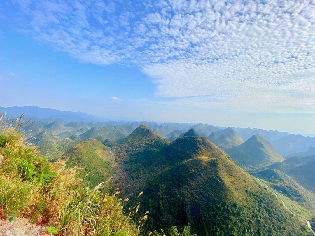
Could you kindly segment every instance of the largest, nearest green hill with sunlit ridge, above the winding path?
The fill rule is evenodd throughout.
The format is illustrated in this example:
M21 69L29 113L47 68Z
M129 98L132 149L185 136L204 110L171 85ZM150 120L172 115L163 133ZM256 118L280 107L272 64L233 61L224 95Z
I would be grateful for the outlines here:
M149 228L190 223L198 235L306 235L274 196L207 139L182 137L159 154L157 163L167 167L143 195Z

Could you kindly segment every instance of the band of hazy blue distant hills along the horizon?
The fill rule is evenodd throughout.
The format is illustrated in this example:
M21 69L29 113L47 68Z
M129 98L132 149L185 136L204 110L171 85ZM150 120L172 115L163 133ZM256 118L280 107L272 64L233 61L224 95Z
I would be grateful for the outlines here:
M59 111L37 106L0 107L0 109L5 110L7 115L11 117L18 117L24 112L27 114L26 119L35 121L30 127L26 128L27 134L37 135L44 129L48 129L54 136L57 135L57 138L75 139L78 136L81 140L97 138L102 142L106 140L108 145L112 145L113 143L122 140L140 124L146 124L150 129L156 132L156 134L166 137L170 141L174 141L183 136L184 133L192 128L199 135L208 137L223 150L238 146L243 143L243 141L248 140L251 136L256 134L269 141L277 152L283 156L288 156L296 152L306 152L309 147L315 146L315 138L302 135L289 135L287 132L278 132L277 130L224 128L202 123L110 121L83 112ZM120 125L121 127L119 128L117 125ZM105 126L117 127L104 128ZM92 128L95 130L89 130ZM115 134L111 132L114 132Z

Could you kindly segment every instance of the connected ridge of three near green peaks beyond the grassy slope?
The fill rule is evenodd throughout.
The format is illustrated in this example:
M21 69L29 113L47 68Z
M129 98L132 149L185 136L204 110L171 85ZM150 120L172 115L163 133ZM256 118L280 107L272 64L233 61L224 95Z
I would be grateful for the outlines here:
M125 197L144 190L138 201L150 212L149 230L191 224L198 235L308 235L271 193L204 137L169 142L143 124L111 149L88 139L63 158L82 167L80 175L90 184L115 173Z

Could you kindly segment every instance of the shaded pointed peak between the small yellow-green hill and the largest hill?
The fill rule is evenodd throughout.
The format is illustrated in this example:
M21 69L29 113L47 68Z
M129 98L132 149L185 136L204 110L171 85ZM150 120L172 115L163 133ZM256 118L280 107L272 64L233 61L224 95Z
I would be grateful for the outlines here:
M160 137L142 124L114 146L112 153L121 167L117 168L121 189L124 190L130 184L127 193L142 191L148 179L161 169L159 165L152 164L158 158L157 151L167 143L167 138Z

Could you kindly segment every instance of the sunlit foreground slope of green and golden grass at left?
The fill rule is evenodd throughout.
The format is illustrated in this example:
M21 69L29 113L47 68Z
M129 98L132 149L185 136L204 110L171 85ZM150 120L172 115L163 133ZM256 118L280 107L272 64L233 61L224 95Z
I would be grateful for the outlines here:
M1 118L1 117L0 117ZM38 155L19 130L0 119L0 217L14 220L40 217L58 235L138 235L134 213L125 215L119 192L106 193L105 185L82 186L79 169L67 169ZM105 180L104 180L105 181ZM104 193L105 192L105 193ZM128 213L127 213L128 214Z

